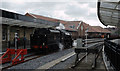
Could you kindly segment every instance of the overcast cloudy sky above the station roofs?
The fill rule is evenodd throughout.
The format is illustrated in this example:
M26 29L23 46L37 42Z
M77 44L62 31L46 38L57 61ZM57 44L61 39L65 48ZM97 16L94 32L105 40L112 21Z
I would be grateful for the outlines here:
M97 0L2 0L1 9L19 14L33 13L66 21L84 21L102 26L97 16Z

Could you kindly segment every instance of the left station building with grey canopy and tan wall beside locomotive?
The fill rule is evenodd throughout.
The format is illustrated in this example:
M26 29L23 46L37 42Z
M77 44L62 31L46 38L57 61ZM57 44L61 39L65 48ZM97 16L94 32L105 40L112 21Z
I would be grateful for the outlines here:
M49 28L58 26L58 22L51 22L44 19L35 19L25 15L5 11L0 9L1 22L1 46L3 51L6 48L15 46L15 33L17 33L19 45L23 46L25 39L26 45L30 45L30 35L33 34L35 28Z

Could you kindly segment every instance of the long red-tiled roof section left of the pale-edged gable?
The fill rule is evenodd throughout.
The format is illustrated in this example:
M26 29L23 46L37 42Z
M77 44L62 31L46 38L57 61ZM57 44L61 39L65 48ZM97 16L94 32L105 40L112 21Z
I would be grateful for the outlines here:
M35 15L35 14L31 14L31 13L26 13L25 15L33 17L33 18L37 18L37 19L44 19L44 20L48 20L48 21L52 21L52 22L60 22L60 24L63 27L62 29L66 30L70 34L72 34L72 37L74 39L79 37L77 27L78 27L80 21L64 21L64 20L59 20L59 19L55 19L55 18L44 17L41 15ZM54 27L54 28L56 28L56 27Z

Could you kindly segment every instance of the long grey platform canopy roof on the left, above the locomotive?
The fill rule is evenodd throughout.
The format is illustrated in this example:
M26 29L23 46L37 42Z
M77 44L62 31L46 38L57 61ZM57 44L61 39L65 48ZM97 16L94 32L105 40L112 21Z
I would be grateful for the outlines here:
M59 22L51 22L43 19L35 19L25 15L8 12L0 9L0 18L2 22L0 24L6 24L10 26L24 26L35 28L49 28L59 26Z

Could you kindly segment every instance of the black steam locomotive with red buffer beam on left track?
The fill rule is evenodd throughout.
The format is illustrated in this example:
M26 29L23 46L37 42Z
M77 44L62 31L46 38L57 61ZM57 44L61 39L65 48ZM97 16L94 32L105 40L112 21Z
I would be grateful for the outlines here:
M71 35L64 30L51 28L35 29L34 34L30 35L30 47L37 51L54 51L59 49L62 44L64 48L72 47Z

